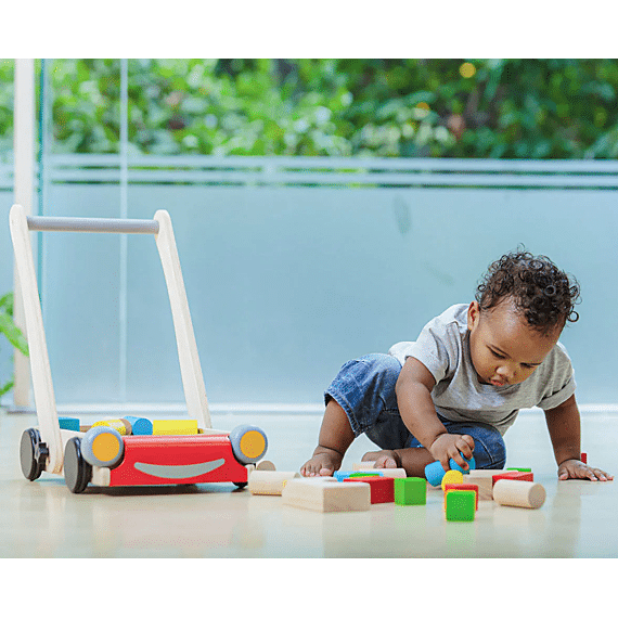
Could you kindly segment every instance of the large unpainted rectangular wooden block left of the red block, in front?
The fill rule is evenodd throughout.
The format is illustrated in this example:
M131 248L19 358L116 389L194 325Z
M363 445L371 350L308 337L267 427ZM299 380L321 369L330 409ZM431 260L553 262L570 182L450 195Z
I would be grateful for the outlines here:
M332 477L325 477L332 478ZM371 488L366 482L329 482L311 478L293 478L281 492L283 504L321 513L369 511Z

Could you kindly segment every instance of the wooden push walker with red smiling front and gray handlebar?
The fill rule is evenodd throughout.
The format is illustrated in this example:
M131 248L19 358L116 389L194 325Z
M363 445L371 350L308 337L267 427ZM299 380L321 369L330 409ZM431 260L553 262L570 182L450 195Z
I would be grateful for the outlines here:
M244 487L254 464L266 453L266 434L253 425L231 432L211 428L206 388L171 219L157 210L153 219L27 217L15 204L10 213L11 239L24 305L38 427L24 432L20 459L24 476L42 472L63 475L73 493L96 487L233 482ZM41 305L30 245L30 231L154 234L169 301L186 409L195 423L191 435L137 435L110 423L61 428L43 330ZM156 421L155 421L156 423ZM147 424L147 423L146 423Z

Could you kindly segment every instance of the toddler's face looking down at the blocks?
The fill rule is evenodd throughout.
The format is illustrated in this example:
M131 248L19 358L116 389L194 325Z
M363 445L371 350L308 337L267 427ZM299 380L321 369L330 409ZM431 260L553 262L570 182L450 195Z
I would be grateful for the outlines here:
M531 329L512 301L480 311L468 307L469 351L481 384L510 386L528 378L556 345L562 327L550 336Z

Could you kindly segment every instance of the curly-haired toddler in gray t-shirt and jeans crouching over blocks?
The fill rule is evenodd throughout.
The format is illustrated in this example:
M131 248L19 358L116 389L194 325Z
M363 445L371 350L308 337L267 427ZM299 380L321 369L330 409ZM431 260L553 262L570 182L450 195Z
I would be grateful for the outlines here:
M425 476L436 460L473 455L477 468L500 469L503 435L519 409L539 407L558 478L611 480L580 459L580 417L570 359L558 337L579 316L575 280L544 256L525 250L493 262L469 305L434 318L415 342L387 355L344 364L325 392L318 447L304 476L330 476L364 433L381 451L363 455L375 467Z

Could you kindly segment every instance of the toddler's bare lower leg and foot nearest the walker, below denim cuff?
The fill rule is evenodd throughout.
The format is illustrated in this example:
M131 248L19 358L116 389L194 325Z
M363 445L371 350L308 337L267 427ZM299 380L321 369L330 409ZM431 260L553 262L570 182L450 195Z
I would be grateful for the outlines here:
M344 455L353 439L355 433L344 409L331 399L322 419L313 456L300 468L300 474L333 476L333 473L342 466Z

